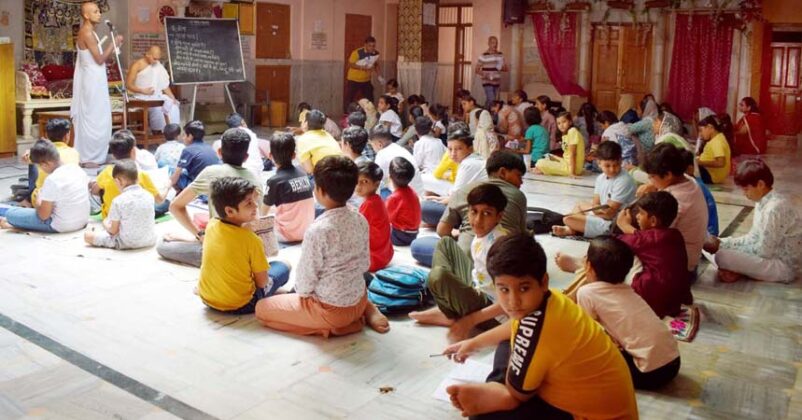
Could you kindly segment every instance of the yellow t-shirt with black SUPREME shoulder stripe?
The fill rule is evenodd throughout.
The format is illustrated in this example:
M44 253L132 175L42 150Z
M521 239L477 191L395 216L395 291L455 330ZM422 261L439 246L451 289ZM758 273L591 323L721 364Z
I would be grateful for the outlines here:
M637 419L629 368L601 325L562 293L512 320L507 384L575 419Z

